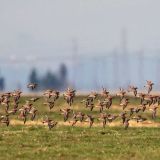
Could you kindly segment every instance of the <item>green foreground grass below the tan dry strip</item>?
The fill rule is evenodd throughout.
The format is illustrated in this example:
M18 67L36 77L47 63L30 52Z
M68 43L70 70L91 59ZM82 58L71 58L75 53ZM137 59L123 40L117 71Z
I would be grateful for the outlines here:
M159 128L0 128L0 159L159 160Z

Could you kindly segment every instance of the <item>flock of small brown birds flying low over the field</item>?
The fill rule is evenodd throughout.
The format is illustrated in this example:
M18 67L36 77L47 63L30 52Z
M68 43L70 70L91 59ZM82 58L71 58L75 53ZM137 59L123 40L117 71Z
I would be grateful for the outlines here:
M112 107L113 96L110 95L109 91L103 88L101 93L91 92L86 99L82 100L81 103L84 104L86 108L90 111L90 114L85 114L83 112L74 111L71 106L76 97L76 90L68 88L64 93L63 97L68 107L60 109L59 113L63 116L64 122L69 121L71 126L75 126L79 122L88 122L89 127L92 127L95 120L101 121L102 126L105 127L107 123L113 122L115 119L120 118L124 128L129 127L130 121L135 120L137 123L146 121L147 118L143 117L141 113L146 110L151 111L151 118L155 119L157 114L157 109L160 104L160 96L152 95L151 91L154 83L152 81L147 81L146 93L138 93L138 88L135 86L129 86L127 90L120 88L116 96L120 99L120 107L122 107L122 112L120 114L111 114L108 113ZM36 83L30 83L27 85L28 88L34 90L38 85ZM140 99L140 104L137 107L128 108L129 99L127 98L127 92L133 93L134 97ZM38 109L34 107L34 103L37 102L40 98L30 98L25 102L24 105L20 107L20 98L22 92L20 90L15 90L13 92L2 93L0 95L0 105L4 106L5 114L0 117L0 122L9 126L10 124L10 115L18 114L18 118L21 119L24 124L28 119L34 121L38 113ZM60 92L56 90L46 90L43 93L44 103L47 105L50 110L55 106L55 102L60 97ZM98 102L97 102L98 101ZM12 109L10 106L13 105ZM94 108L99 109L98 117L95 117L92 114ZM70 121L71 119L71 121ZM58 122L50 119L48 116L44 116L42 120L43 124L47 124L49 129L55 127Z

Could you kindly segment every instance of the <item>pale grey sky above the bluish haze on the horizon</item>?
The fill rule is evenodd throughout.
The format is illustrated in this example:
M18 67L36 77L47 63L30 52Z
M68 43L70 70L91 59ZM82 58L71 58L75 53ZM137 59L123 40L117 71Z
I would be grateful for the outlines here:
M0 0L0 54L79 54L121 47L159 49L159 0Z

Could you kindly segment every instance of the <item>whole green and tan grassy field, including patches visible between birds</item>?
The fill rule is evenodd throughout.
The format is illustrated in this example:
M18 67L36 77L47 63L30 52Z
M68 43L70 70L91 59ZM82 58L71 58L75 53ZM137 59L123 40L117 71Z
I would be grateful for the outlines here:
M23 97L21 104L29 98ZM91 113L79 103L82 99L83 97L76 98L71 108L75 111ZM41 98L34 104L39 111L35 122L27 121L26 125L22 125L21 120L15 115L11 116L9 127L0 125L0 159L160 159L160 128L154 125L160 123L159 111L155 121L151 120L150 111L144 113L151 127L145 126L145 123L141 124L144 127L138 127L133 122L135 125L124 130L120 120L116 120L118 126L110 125L106 128L102 128L99 121L96 121L92 128L89 128L87 123L71 127L68 122L63 122L63 117L59 114L60 108L68 107L64 100L58 100L52 111L42 105L43 101ZM130 101L129 107L139 104L138 99ZM106 112L120 113L122 110L118 103L119 99L114 98L112 109ZM1 114L2 112L3 106ZM97 116L98 109L95 108L92 114ZM59 124L52 130L48 130L47 126L41 123L43 115L48 115Z

